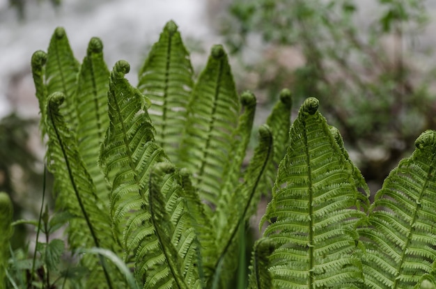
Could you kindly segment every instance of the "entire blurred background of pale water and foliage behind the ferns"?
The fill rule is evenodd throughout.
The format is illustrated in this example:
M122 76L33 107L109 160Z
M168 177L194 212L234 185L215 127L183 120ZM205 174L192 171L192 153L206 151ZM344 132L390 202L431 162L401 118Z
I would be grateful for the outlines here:
M63 26L81 61L98 36L109 68L125 59L135 85L169 19L197 74L224 44L238 92L258 97L257 125L281 88L294 93L294 116L317 97L373 193L416 137L436 129L436 0L0 0L0 191L16 219L38 216L42 192L33 52Z

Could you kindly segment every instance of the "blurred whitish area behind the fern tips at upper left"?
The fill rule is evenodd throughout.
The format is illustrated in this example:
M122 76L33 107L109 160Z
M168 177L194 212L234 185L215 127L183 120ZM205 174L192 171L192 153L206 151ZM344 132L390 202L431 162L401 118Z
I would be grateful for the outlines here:
M63 0L59 8L49 1L29 0L26 17L17 17L8 0L0 0L0 118L16 110L20 116L38 116L30 59L38 49L47 51L56 26L63 26L76 58L81 61L88 41L102 39L109 69L120 59L128 61L127 77L137 84L137 69L159 38L164 24L173 19L184 40L219 42L212 36L205 0ZM208 49L208 48L206 48Z

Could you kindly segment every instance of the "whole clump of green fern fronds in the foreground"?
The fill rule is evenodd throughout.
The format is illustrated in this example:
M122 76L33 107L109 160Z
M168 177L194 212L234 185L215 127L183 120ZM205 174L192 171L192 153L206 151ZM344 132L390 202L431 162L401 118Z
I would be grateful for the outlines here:
M234 288L238 233L270 191L249 288L435 288L436 132L417 139L369 205L316 98L291 125L281 91L246 166L256 97L236 92L224 47L194 80L168 22L138 87L126 61L108 70L102 49L92 38L79 63L57 28L48 54L32 57L56 210L72 216L68 245L125 263L119 272L111 254L85 254L84 288L126 288L129 271L139 288Z

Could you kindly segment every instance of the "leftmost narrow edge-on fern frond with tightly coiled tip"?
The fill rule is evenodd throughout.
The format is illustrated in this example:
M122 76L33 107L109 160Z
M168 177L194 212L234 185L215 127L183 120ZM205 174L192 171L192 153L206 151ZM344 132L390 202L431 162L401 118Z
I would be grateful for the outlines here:
M33 84L36 88L36 97L38 98L40 106L40 130L42 136L45 134L44 119L45 119L45 102L47 100L47 87L45 86L44 75L45 75L45 63L47 62L47 54L41 50L33 53L32 55L32 77Z

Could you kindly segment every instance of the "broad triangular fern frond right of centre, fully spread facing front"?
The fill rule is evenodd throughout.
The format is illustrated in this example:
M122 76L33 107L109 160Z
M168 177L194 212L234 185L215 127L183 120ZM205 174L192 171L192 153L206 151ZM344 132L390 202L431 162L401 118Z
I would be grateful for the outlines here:
M263 221L276 249L269 268L277 288L360 288L359 236L365 217L350 182L352 166L308 98L290 129L290 146L280 163L272 201ZM261 225L261 224L260 224Z

